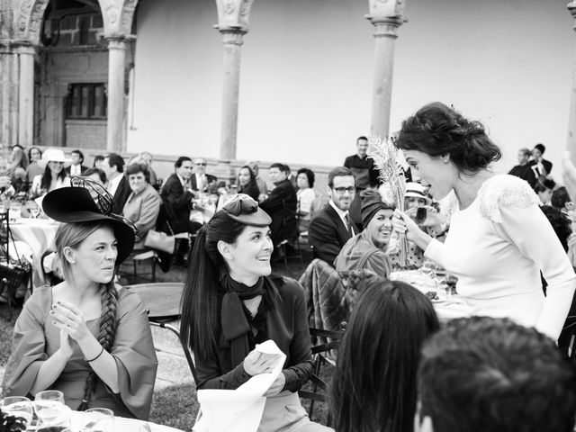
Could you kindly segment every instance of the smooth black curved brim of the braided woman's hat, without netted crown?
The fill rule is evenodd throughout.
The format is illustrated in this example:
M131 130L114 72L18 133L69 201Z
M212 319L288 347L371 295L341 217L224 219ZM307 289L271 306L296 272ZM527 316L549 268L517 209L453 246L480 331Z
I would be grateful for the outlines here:
M42 210L49 218L58 222L105 220L110 223L118 244L115 266L121 264L134 248L134 230L123 220L103 214L90 192L83 187L61 187L47 193L42 200Z

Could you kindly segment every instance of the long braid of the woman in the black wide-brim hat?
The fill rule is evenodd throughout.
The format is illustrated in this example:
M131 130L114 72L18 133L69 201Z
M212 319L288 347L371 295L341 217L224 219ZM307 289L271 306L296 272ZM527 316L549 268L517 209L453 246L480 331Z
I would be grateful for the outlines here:
M110 352L114 338L116 336L116 310L118 309L118 292L114 286L114 278L108 284L103 285L102 290L102 313L100 314L100 329L98 330L98 342L104 350ZM97 383L98 376L91 370L86 378L84 387L84 397L82 398L82 406L87 408L87 403L92 397L95 383Z

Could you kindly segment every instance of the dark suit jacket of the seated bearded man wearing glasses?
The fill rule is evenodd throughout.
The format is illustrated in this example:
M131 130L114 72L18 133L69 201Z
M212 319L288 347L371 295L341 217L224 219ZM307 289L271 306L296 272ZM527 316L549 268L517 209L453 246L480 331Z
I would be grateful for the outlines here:
M330 266L334 266L334 260L351 237L330 204L316 213L308 229L308 243L313 247L314 257L326 261Z

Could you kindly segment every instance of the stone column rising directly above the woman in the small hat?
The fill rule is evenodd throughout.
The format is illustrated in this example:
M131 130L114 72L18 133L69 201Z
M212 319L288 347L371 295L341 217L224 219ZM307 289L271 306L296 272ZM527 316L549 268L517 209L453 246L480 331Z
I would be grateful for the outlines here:
M224 44L222 118L220 123L220 158L236 158L238 97L240 91L240 53L247 30L219 27Z

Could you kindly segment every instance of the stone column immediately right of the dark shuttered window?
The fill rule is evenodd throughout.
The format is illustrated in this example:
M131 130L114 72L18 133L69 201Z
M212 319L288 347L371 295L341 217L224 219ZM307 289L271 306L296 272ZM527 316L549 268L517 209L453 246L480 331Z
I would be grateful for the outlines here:
M126 149L124 133L124 94L126 67L126 49L128 42L124 37L109 37L108 41L108 121L106 149L120 153Z

